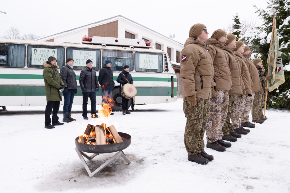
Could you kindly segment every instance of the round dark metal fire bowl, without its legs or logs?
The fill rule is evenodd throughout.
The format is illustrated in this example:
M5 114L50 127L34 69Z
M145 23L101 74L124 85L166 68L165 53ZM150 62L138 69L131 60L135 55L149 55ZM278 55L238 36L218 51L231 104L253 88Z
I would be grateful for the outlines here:
M126 139L126 141L116 143L116 144L106 144L106 145L90 145L90 144L81 144L77 140L79 137L75 138L75 146L78 150L87 152L87 153L112 153L126 149L131 144L131 135L127 133L118 132L120 137Z

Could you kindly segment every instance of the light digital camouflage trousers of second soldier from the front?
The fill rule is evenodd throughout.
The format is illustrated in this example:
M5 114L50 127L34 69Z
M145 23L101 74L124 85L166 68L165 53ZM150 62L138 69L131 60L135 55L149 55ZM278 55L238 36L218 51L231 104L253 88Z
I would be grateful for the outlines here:
M211 98L209 118L206 122L206 140L213 143L222 139L222 126L226 121L229 106L229 93L227 90L216 90Z

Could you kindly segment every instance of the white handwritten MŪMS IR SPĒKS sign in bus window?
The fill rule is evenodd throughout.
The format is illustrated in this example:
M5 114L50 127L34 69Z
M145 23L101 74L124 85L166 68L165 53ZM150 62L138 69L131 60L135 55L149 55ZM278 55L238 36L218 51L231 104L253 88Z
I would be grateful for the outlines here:
M86 61L90 59L93 66L96 67L96 51L74 50L73 60L75 66L86 66Z

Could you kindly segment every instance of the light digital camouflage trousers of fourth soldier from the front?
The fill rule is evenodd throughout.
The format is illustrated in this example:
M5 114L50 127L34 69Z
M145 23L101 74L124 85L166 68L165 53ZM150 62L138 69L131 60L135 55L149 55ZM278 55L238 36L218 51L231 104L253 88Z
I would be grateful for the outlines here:
M245 100L246 100L245 95L235 95L235 101L234 101L234 106L233 106L234 111L231 117L232 126L234 129L242 126L240 118L242 115L242 111L245 108Z

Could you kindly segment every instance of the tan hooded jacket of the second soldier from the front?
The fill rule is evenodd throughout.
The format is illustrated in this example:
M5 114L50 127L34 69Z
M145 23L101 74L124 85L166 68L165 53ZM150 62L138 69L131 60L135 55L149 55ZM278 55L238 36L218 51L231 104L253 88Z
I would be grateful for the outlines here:
M205 41L211 48L209 54L213 59L214 78L217 84L215 90L229 90L231 89L231 71L229 69L229 58L222 50L225 43L221 43L215 38L210 38Z

